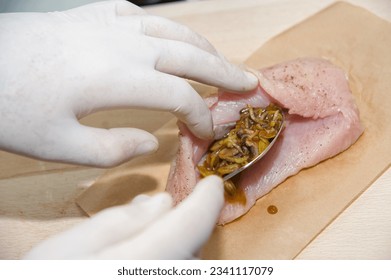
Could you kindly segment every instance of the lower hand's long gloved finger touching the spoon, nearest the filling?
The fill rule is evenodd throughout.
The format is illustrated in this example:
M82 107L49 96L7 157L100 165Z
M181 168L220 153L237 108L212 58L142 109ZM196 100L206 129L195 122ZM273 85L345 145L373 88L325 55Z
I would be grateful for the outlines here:
M97 253L101 259L189 259L209 238L224 205L223 181L201 180L175 209L133 239Z

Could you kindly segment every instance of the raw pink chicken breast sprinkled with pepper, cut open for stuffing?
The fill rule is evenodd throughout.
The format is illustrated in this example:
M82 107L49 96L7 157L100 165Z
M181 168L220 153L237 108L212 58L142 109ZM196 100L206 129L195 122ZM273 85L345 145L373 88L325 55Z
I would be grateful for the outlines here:
M273 102L286 110L286 127L276 144L235 178L239 191L234 197L226 195L219 224L245 214L287 177L346 150L363 132L345 73L326 60L301 58L265 68L259 71L259 81L251 93L220 92L206 100L216 131L219 125L238 119L246 104L266 107ZM210 145L185 125L179 124L179 129L179 150L166 188L175 203L191 193L199 180L196 165Z

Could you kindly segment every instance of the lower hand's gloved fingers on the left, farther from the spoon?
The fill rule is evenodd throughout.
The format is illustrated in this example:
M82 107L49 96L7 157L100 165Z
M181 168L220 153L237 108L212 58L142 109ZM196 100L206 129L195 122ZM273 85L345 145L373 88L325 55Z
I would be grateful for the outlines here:
M172 206L167 193L136 197L130 204L108 208L31 250L27 259L88 258L103 248L132 238Z

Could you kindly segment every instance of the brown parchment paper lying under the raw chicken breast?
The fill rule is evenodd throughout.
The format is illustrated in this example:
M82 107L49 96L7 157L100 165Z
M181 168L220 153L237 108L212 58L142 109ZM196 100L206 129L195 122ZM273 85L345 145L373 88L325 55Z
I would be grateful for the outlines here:
M349 77L365 132L349 150L302 170L259 199L244 217L217 227L201 258L292 259L390 166L390 35L391 23L336 3L273 38L246 61L261 68L302 56L331 60ZM156 135L157 154L108 171L79 197L86 213L164 189L177 149L175 120ZM270 205L277 207L276 214L268 213Z

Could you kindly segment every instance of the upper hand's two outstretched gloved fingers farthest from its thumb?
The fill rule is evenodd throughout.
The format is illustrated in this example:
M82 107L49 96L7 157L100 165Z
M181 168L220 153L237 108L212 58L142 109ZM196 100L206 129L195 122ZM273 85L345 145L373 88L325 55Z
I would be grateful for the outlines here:
M254 74L229 63L206 38L187 26L156 16L141 19L144 34L156 37L163 48L157 70L237 92L258 86Z

